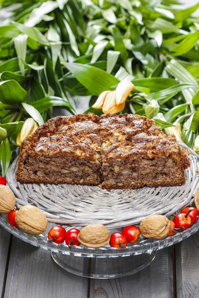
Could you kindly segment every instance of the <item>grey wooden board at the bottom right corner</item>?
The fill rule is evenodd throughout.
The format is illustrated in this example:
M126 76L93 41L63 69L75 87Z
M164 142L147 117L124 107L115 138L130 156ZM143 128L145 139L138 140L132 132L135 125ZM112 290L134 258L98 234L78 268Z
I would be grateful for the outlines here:
M199 232L176 244L177 298L199 298Z

